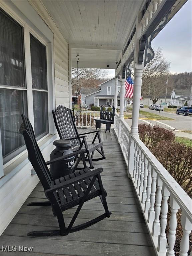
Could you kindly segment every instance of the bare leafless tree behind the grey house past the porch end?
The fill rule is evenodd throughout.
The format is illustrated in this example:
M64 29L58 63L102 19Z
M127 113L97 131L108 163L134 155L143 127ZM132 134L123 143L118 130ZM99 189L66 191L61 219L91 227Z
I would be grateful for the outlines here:
M97 87L109 74L107 69L79 68L79 87ZM77 88L77 68L72 68L72 87Z

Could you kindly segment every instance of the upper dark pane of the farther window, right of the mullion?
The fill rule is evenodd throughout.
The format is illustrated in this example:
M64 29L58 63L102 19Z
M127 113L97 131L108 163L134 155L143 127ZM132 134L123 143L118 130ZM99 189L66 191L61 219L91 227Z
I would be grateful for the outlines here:
M30 34L32 86L47 90L46 47Z

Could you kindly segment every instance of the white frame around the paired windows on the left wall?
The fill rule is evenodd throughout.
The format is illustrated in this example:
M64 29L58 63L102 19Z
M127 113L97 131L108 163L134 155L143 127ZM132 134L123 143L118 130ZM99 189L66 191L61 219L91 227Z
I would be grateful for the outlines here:
M20 5L23 8L25 8L25 5L27 8L25 8L25 16L20 15L19 6L18 9L15 7L15 5ZM38 143L46 139L50 135L54 135L56 133L56 129L53 122L52 117L52 110L55 109L55 78L54 78L54 38L53 33L50 29L46 26L46 24L43 22L43 20L38 16L37 13L32 17L32 12L35 12L35 10L32 8L32 6L25 2L18 2L17 4L13 4L10 2L0 2L0 8L6 12L13 20L15 20L20 26L23 27L23 37L24 37L24 60L25 60L25 75L26 75L26 88L18 88L14 86L1 86L0 88L4 89L17 89L17 90L26 90L27 91L27 108L28 108L28 117L30 119L30 122L34 129L34 115L33 115L33 93L32 91L32 75L31 75L31 58L30 58L30 33L37 38L43 45L46 46L46 58L47 58L47 91L48 92L48 134L43 136L38 140ZM31 10L29 10L32 8ZM27 16L28 13L31 14L31 19L33 19L33 23L31 23ZM36 16L37 15L37 16ZM22 16L22 18L21 18ZM38 20L38 18L40 20ZM34 25L35 24L35 25ZM44 30L42 27L45 26ZM36 89L35 89L36 90ZM40 91L40 90L38 90ZM1 146L1 134L0 134L0 146ZM16 161L18 158L20 158L22 155L26 153L26 150L23 150L21 153L19 153L17 156L13 156L7 163L3 164L3 156L2 152L0 150L0 167L3 166L3 168L6 168L10 164L12 164L14 161ZM3 176L3 173L0 173L0 178Z

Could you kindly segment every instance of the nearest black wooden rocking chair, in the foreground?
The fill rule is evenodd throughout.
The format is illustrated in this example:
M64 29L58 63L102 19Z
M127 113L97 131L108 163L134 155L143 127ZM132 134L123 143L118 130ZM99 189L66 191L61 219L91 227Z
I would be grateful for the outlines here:
M28 204L29 206L45 206L51 205L53 210L53 215L57 216L58 224L60 229L48 230L48 231L33 231L27 234L27 236L54 236L61 235L65 236L71 232L79 231L81 229L87 228L106 217L110 217L110 212L108 210L106 196L107 193L102 185L102 180L100 173L103 171L102 168L95 169L91 171L85 163L84 152L85 150L79 150L74 153L59 157L57 159L45 162L39 146L35 140L34 131L29 119L22 114L23 123L20 128L20 132L23 134L25 143L28 150L28 158L37 173L43 188L45 190L45 195L49 201L45 202L33 202ZM73 169L73 173L61 177L59 179L53 180L47 165L55 163L57 161L62 161L71 156L80 157L77 159L77 163ZM76 166L79 161L82 160L84 168L82 170L75 171ZM84 204L84 202L99 196L105 213L98 216L97 218L85 222L81 225L73 227L73 224ZM77 206L77 210L68 225L65 226L65 221L62 212Z

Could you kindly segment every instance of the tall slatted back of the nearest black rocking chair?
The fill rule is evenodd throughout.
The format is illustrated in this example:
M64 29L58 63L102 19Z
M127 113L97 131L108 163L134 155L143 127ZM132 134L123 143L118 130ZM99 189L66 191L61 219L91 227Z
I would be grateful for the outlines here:
M44 189L51 187L52 177L45 163L43 155L35 139L33 127L29 119L25 115L21 115L23 124L21 125L20 132L23 134L25 144L28 150L28 158L35 169L37 176L42 182Z

